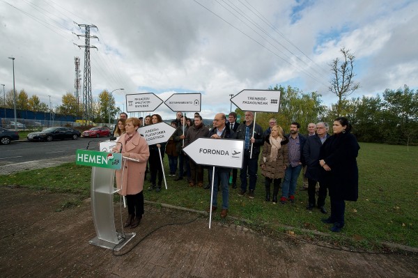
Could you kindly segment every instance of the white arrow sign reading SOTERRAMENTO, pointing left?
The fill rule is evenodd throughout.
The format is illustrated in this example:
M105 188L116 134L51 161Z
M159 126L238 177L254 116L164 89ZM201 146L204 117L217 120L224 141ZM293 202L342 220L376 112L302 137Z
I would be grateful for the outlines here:
M164 103L175 112L200 112L201 93L173 93Z

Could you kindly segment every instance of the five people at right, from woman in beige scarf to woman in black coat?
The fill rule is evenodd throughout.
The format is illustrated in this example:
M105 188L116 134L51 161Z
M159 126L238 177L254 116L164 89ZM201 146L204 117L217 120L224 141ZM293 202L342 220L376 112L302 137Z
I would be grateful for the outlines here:
M270 185L273 183L272 201L277 203L283 179L280 202L295 202L297 178L305 168L304 178L308 181L307 210L317 206L321 213L327 214L325 199L329 190L331 215L322 221L333 224L331 231L341 231L345 224L345 201L357 201L358 198L356 157L359 144L350 133L352 127L348 119L339 117L334 120L332 136L328 134L329 125L325 122L316 125L309 123L307 137L299 133L300 124L297 122L291 123L290 133L286 135L274 119L270 119L269 125L264 132L259 162L261 174L265 176L265 201L270 201Z

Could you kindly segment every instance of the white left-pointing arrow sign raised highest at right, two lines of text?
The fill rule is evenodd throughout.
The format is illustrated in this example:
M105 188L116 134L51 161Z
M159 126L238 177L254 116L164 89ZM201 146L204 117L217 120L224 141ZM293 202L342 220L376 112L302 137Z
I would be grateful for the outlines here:
M242 111L278 112L280 91L242 90L231 98L231 102Z

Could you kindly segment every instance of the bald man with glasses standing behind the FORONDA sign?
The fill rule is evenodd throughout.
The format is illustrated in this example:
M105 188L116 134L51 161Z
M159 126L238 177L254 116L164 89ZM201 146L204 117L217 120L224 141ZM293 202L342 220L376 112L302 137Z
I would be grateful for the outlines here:
M226 125L226 116L223 113L218 113L213 119L213 128L209 132L209 137L211 139L233 139L235 134L233 130ZM218 181L220 180L220 185L222 187L222 210L221 218L225 218L228 215L229 208L229 183L228 176L230 168L226 167L215 167L215 175L213 176L213 196L212 196L212 206L208 211L215 211L217 209L217 192L218 192ZM209 176L212 177L213 168L209 169Z

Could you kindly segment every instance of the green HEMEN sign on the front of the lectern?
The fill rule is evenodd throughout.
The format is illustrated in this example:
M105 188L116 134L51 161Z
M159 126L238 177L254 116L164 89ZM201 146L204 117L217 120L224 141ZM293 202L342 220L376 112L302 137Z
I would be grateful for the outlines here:
M108 169L121 169L122 154L104 153L95 150L77 150L77 153L75 154L75 164Z

